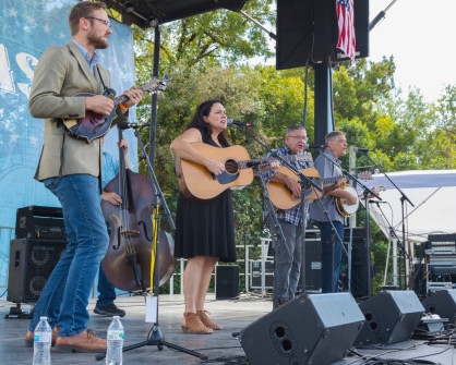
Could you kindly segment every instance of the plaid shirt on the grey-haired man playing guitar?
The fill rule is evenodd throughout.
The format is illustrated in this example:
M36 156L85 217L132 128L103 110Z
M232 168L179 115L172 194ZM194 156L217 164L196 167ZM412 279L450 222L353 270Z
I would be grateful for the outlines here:
M287 145L284 145L277 149L274 150L278 156L286 156L286 155L295 155L291 149L288 148ZM272 157L272 154L267 154L266 158ZM297 170L302 170L302 169L307 169L307 168L312 168L313 163L309 163L309 162L304 162L304 161L289 161L288 163L290 163L295 169ZM276 173L277 171L273 170L273 171L264 171L262 172L262 178L264 180L265 183L267 183L269 181L269 179ZM305 221L309 219L309 204L305 203L304 204L304 216L305 216ZM264 219L267 218L269 211L267 208L267 204L264 204ZM298 204L296 207L292 207L291 209L288 210L277 210L276 211L277 218L285 220L291 224L295 224L296 227L299 226L299 223L301 222L301 205Z

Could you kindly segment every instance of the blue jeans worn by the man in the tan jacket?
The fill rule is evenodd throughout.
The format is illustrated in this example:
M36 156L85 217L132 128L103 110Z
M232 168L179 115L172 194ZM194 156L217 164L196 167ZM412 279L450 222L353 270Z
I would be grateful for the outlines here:
M28 330L34 331L39 317L47 316L52 328L61 327L59 337L71 337L87 329L88 296L109 238L98 178L74 174L44 183L62 206L68 244L36 303Z

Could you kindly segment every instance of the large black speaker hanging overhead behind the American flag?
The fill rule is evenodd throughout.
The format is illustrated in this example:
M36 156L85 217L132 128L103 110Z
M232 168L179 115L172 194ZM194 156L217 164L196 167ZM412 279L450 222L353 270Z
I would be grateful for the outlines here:
M356 58L369 57L369 0L353 0ZM336 0L277 0L276 69L337 63Z

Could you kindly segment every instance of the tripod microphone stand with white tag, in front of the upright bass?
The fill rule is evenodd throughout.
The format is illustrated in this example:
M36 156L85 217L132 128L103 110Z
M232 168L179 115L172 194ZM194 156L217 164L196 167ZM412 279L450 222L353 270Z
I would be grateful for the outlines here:
M157 231L159 231L160 214L159 214L158 206L159 206L159 203L161 203L161 206L164 207L164 210L165 210L165 214L168 218L168 222L169 222L169 226L171 227L171 230L176 230L176 226L175 226L175 222L172 220L171 212L169 211L169 208L168 208L168 206L166 204L166 200L165 200L165 196L163 195L160 186L158 185L158 181L157 181L157 178L155 177L154 169L152 168L151 160L148 159L148 156L145 153L144 145L143 145L141 138L140 138L140 132L137 131L136 127L134 129L134 136L137 138L137 142L140 143L142 157L144 158L144 160L146 161L146 165L147 165L148 175L151 178L151 183L155 187L154 188L155 190L155 197L156 197L155 202L157 202L157 205L156 205L155 208L157 208L157 214L155 216L156 224L153 224L153 226L156 227ZM156 210L155 208L153 209L153 211ZM131 344L129 346L124 346L122 352L127 352L127 351L130 351L130 350L142 348L144 345L155 345L155 346L157 346L157 349L159 351L163 350L163 346L167 346L168 349L177 350L177 351L187 353L189 355L199 357L201 360L207 360L208 356L206 356L206 355L203 355L199 352L182 348L180 345L177 345L175 343L170 343L170 342L167 342L167 341L164 340L164 334L163 334L161 329L158 325L158 291L159 291L159 280L160 280L159 279L159 244L158 244L159 243L158 242L159 232L153 232L152 236L153 238L157 236L156 246L155 246L154 282L152 283L153 284L152 307L155 307L155 311L156 311L155 318L154 318L155 319L154 325L153 325L153 327L151 328L151 330L147 334L147 340L145 340L143 342L135 343L135 344ZM145 294L145 292L144 292L144 294ZM96 356L96 360L103 360L105 356L106 356L106 354L103 354L103 356L98 355L98 356Z

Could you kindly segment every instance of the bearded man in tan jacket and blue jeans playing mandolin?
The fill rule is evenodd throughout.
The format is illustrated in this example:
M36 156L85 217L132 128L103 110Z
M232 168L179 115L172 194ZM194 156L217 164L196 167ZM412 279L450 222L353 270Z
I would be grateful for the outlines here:
M101 115L111 113L112 99L101 95L110 86L110 76L97 64L96 49L108 47L112 31L106 5L99 2L74 5L69 23L72 40L43 53L28 101L31 114L45 119L44 146L35 179L43 181L62 205L68 245L35 306L26 344L33 344L39 317L47 316L56 350L100 352L106 351L106 340L87 329L86 307L109 243L100 209L101 139L87 144L72 138L59 120L83 118L87 110ZM94 96L76 97L76 94ZM142 92L134 86L123 94L128 99L120 106L121 118L142 98Z

